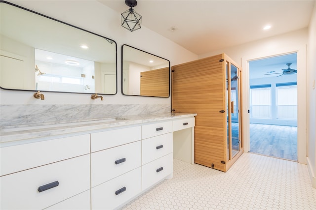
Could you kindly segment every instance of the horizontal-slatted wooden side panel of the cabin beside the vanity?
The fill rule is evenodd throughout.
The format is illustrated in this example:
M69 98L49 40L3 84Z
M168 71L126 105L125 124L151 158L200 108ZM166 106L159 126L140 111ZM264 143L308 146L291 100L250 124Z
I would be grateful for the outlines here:
M172 66L172 109L197 113L195 163L226 171L227 117L224 54ZM220 112L224 110L225 113Z

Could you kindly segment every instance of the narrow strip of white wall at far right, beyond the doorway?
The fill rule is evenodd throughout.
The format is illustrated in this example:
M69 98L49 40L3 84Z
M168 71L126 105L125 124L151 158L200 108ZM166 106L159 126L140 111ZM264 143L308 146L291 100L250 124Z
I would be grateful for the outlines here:
M308 168L313 186L316 188L316 5L309 25L307 74L307 130L308 130Z

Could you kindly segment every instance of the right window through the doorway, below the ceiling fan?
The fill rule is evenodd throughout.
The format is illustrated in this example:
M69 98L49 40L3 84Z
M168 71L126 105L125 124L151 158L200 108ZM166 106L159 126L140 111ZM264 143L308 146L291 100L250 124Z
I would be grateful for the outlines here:
M276 84L276 118L297 120L297 84Z

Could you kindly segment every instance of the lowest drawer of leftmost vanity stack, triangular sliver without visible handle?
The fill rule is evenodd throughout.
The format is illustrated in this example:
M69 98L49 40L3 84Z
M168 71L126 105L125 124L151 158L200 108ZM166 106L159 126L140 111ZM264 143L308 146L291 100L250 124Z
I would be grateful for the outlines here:
M45 210L89 210L90 190L84 191L74 197L68 198L58 204L48 207Z

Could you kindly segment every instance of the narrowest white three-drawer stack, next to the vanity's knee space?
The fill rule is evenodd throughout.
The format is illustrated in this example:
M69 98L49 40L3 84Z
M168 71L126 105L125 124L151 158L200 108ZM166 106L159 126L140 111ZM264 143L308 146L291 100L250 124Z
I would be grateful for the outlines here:
M172 121L142 125L142 187L172 177Z

